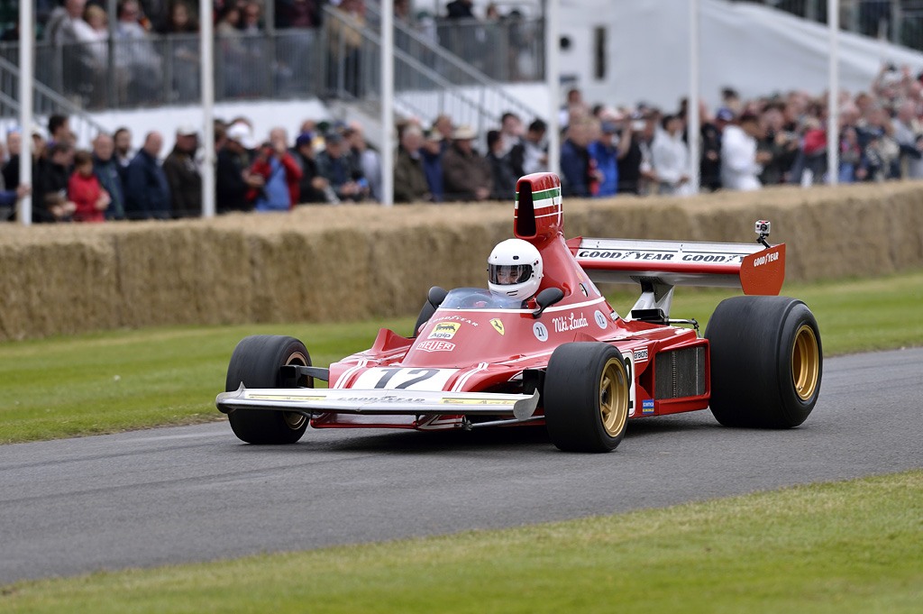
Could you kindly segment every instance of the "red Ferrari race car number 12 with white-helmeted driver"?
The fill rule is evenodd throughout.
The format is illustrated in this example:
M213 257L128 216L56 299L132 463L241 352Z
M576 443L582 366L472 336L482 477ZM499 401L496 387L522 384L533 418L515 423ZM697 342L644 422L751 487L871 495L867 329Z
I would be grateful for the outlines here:
M413 337L383 329L330 368L291 337L240 342L216 400L234 434L279 444L308 424L544 423L561 450L610 451L629 418L711 407L725 425L785 428L808 417L821 335L804 303L776 296L785 245L766 242L769 223L753 244L565 241L557 175L526 175L516 190L516 238L491 253L488 289L431 289ZM593 282L639 283L641 297L619 317ZM746 296L723 301L702 338L694 320L670 319L680 284Z

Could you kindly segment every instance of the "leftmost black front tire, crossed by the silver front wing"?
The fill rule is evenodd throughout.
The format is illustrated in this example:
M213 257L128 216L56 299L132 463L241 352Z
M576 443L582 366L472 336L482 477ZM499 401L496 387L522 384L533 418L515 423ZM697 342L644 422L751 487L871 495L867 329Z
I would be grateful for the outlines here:
M283 365L311 366L311 356L305 344L294 337L280 335L254 335L246 337L234 348L224 389L236 391L241 383L246 388L282 388L279 367ZM307 387L313 388L313 379L307 378ZM307 418L294 412L237 409L228 414L231 428L238 439L247 443L294 443L305 434Z

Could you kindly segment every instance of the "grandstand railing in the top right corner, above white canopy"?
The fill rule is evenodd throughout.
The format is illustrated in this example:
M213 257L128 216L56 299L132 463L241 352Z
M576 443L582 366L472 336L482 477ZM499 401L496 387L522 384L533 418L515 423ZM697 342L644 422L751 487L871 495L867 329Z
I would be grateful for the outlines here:
M827 0L733 0L827 23ZM923 51L923 0L840 0L840 27Z

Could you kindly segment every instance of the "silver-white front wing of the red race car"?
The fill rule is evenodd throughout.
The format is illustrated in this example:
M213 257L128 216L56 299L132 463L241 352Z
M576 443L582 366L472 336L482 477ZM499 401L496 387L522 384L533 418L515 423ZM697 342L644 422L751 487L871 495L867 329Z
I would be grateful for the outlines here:
M254 388L243 384L215 399L218 410L263 409L303 415L499 415L525 420L535 413L538 391L529 394L354 390L330 388Z

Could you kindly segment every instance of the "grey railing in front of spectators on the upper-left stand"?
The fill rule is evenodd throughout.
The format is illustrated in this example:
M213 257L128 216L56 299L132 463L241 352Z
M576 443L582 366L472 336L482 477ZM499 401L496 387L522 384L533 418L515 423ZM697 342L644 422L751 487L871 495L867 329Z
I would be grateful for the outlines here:
M215 37L215 99L318 96L324 92L322 31ZM0 43L0 57L18 65L18 43ZM94 111L200 99L196 34L35 46L35 76L78 107Z

